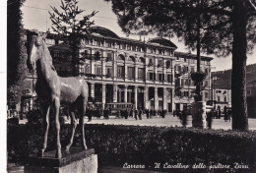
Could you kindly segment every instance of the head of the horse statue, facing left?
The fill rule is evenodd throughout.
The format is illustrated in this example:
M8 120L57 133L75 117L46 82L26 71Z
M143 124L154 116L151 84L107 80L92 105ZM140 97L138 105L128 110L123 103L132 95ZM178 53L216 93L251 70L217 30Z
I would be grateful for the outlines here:
M41 45L45 40L46 33L41 33L36 29L32 29L28 30L27 35L27 66L30 70L34 70L35 62L40 58L39 51L42 49Z

